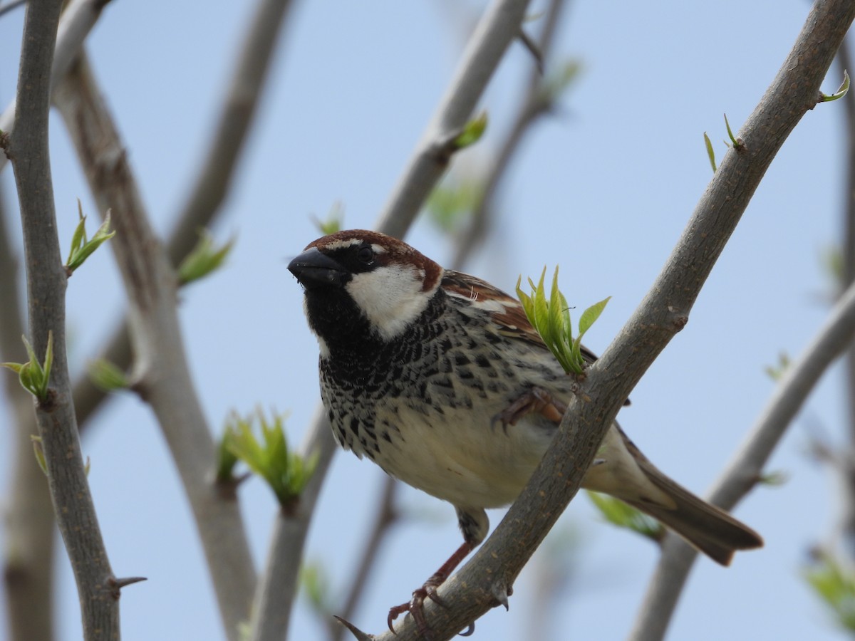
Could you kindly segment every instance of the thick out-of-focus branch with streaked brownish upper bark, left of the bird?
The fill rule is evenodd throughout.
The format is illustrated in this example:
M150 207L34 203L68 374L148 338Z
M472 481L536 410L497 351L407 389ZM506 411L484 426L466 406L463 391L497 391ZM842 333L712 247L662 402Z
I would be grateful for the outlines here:
M233 487L214 481L215 445L186 363L177 279L149 225L119 135L81 53L56 93L98 210L112 211L115 252L127 289L133 387L150 404L178 468L227 637L250 616L256 577Z

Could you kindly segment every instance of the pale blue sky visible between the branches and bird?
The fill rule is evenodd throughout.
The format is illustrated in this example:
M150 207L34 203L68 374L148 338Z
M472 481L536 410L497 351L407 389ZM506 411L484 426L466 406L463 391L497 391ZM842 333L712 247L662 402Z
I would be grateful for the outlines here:
M110 3L89 51L121 129L156 229L167 233L206 147L233 67L249 3ZM340 202L345 225L371 226L445 91L482 3L298 3L272 83L225 204L218 238L236 233L227 267L182 292L188 356L211 426L231 409L288 410L298 442L319 399L317 348L286 259L316 238L312 215ZM534 3L532 12L542 9ZM512 291L519 274L561 265L569 302L611 302L587 337L604 350L661 268L711 176L703 132L718 155L774 77L808 12L785 2L571 3L556 55L583 65L557 115L534 126L499 197L490 244L466 270ZM21 12L0 18L0 105L14 96ZM485 138L455 159L475 169L501 141L531 58L511 47L481 101ZM826 92L840 84L833 68ZM695 491L716 479L773 389L764 368L797 355L828 309L823 252L841 232L843 107L805 115L769 169L724 250L690 321L622 410L622 426L664 471ZM60 237L71 238L76 199L94 214L56 118L51 130ZM13 209L11 173L0 175ZM17 222L15 221L15 225ZM451 250L425 219L408 236L428 256ZM123 304L114 262L101 250L68 287L71 359L80 371ZM251 371L252 375L247 375ZM834 639L842 636L799 576L806 551L828 539L840 508L835 479L806 456L813 435L844 433L840 368L811 396L769 470L786 485L760 488L736 514L766 539L722 569L701 560L669 638ZM3 411L0 399L0 411ZM0 433L8 451L9 431ZM120 395L98 415L83 449L111 562L148 581L123 593L123 638L218 639L219 617L186 500L143 403ZM8 485L0 456L0 491ZM333 588L348 584L382 473L338 455L310 532ZM253 550L266 553L274 502L258 480L241 489ZM411 518L396 526L354 622L379 632L400 603L459 544L451 507L409 489ZM501 512L491 514L492 523ZM585 497L558 528L572 532L572 578L551 609L554 638L626 636L657 552L599 522ZM2 531L0 531L2 536ZM552 536L557 541L561 535ZM510 612L493 610L476 638L524 638L534 612L535 556ZM62 641L80 638L74 582L62 562ZM3 616L0 614L0 616ZM321 638L300 606L292 638ZM558 632L563 631L563 632Z

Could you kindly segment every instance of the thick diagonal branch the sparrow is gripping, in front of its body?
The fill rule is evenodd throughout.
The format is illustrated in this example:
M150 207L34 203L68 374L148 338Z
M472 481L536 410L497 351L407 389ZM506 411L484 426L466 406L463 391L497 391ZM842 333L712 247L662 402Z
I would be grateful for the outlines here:
M855 2L817 2L787 61L743 127L742 144L728 151L651 290L570 403L558 436L504 520L426 616L437 638L451 638L510 591L516 576L570 499L623 400L688 320L689 311L766 169L802 115L813 109L834 53L852 23ZM398 634L418 638L412 617Z

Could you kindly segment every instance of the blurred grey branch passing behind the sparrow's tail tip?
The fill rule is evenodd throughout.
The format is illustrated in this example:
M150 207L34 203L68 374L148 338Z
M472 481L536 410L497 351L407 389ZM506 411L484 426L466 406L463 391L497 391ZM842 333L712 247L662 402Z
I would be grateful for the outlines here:
M712 503L732 509L756 485L787 426L823 373L852 344L853 337L855 285L850 285L834 305L817 336L799 359L787 368L745 444L716 482L710 493ZM630 638L634 641L656 641L664 637L682 585L697 556L695 550L669 534Z

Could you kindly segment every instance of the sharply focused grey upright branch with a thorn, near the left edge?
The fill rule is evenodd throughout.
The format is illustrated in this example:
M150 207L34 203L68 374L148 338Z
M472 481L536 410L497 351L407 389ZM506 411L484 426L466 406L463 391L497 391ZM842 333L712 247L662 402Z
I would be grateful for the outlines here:
M61 0L27 5L17 122L9 141L21 204L27 262L30 337L43 358L49 334L54 362L48 396L36 404L38 433L47 463L50 497L80 595L84 638L118 639L119 589L97 524L74 419L65 345L65 288L50 178L48 112L50 68Z

